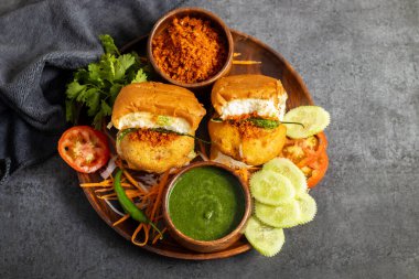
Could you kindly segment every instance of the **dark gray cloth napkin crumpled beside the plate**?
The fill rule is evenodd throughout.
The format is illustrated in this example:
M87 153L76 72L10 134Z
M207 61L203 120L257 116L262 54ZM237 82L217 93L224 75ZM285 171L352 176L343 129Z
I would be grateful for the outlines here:
M0 17L0 185L56 151L65 84L100 56L98 35L121 46L181 2L45 0Z

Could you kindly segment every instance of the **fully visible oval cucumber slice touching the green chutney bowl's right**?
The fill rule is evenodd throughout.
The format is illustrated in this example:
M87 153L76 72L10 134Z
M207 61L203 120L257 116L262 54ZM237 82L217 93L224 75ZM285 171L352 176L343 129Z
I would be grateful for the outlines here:
M289 179L268 170L251 175L250 192L255 200L269 205L280 205L296 196L296 189Z

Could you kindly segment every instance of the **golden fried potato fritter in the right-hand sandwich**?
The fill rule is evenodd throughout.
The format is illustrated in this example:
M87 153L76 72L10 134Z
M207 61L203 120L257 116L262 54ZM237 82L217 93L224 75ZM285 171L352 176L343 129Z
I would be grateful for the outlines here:
M264 129L250 122L208 122L213 144L221 152L250 165L259 165L277 157L286 142L287 128Z

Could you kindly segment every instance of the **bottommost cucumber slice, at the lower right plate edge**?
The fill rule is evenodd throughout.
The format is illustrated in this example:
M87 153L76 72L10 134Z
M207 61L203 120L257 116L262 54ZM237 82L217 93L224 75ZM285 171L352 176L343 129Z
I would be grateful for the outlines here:
M251 246L266 257L277 255L286 242L282 228L266 226L254 216L247 222L245 236Z

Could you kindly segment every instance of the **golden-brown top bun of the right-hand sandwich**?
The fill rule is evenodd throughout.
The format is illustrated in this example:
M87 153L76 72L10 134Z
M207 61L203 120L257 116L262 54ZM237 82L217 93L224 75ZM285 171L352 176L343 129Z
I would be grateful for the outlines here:
M278 106L279 97L286 95L281 82L264 75L235 75L219 78L211 93L211 101L218 115L222 107L234 99L273 99Z

